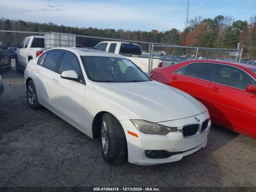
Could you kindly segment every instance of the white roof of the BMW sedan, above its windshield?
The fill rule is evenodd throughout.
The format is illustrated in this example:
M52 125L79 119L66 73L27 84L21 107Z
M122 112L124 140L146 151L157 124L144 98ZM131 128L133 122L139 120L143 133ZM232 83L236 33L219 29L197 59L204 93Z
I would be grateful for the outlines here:
M105 57L117 57L117 58L127 59L126 57L119 55L119 54L109 53L109 52L95 50L95 49L88 49L88 48L56 47L56 48L52 48L50 50L54 50L54 49L75 52L75 53L79 54L80 56L105 56Z

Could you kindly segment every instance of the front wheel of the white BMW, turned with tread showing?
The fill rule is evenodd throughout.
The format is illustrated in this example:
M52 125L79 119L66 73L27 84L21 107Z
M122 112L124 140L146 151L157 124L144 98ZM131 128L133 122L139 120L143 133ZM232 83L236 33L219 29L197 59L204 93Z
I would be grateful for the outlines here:
M120 122L110 113L105 113L101 120L102 157L108 163L118 164L127 154L127 142Z

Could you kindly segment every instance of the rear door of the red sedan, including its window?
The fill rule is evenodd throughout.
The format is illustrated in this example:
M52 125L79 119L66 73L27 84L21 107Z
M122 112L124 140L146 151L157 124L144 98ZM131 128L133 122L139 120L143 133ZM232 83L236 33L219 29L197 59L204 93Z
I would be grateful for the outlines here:
M169 85L192 95L204 104L215 66L216 63L190 63L170 74Z

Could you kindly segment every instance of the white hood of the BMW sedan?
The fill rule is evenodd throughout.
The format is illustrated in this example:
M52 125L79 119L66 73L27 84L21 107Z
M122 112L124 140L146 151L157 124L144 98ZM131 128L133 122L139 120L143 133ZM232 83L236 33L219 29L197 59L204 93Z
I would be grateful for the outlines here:
M92 86L98 93L150 122L186 118L207 110L202 103L185 92L156 81L93 82Z

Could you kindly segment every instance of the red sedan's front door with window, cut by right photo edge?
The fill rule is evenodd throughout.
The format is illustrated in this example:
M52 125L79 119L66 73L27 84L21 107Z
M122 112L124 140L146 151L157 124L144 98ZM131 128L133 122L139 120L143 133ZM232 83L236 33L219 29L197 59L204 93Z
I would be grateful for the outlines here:
M248 84L256 84L249 74L220 64L209 85L205 106L216 124L255 138L256 94L246 91Z

